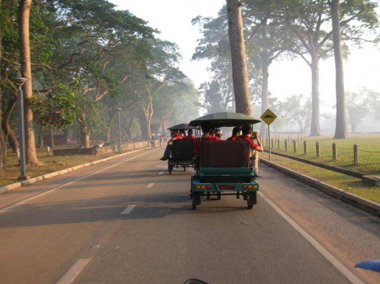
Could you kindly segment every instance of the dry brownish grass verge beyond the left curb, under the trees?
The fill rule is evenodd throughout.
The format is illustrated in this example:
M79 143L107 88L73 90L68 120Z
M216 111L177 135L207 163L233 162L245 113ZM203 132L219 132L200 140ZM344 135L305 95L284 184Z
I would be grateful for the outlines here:
M65 149L71 148L70 146L59 146L54 149ZM107 153L99 156L95 155L73 155L73 156L47 156L46 148L37 149L37 157L40 162L43 163L41 166L27 167L27 175L30 177L43 175L46 173L59 171L65 168L70 168L73 166L81 165L84 163L100 160L105 157L110 157L117 155L117 153ZM17 178L20 176L20 166L18 166L17 154L9 151L7 153L7 169L0 172L0 186L13 183L18 181Z

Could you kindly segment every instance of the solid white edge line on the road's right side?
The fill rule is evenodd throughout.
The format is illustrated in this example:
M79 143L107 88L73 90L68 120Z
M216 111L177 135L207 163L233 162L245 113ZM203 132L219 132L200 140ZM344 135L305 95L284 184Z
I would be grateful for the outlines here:
M320 252L336 269L347 277L353 284L364 284L354 273L352 273L346 266L341 264L335 257L333 257L324 247L322 247L310 234L303 230L296 222L286 215L280 208L277 207L271 200L269 200L262 192L258 192L278 214L281 215L294 229L296 229L317 251Z

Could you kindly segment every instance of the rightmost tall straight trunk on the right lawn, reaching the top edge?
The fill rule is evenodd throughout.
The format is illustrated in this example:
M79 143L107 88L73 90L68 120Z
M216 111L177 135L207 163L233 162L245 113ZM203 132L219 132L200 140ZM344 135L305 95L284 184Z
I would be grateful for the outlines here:
M340 43L340 24L339 24L339 1L331 0L332 18L332 43L334 47L335 59L335 91L336 91L336 124L334 139L346 139L347 116L346 116L346 94L343 74L343 57L341 54Z

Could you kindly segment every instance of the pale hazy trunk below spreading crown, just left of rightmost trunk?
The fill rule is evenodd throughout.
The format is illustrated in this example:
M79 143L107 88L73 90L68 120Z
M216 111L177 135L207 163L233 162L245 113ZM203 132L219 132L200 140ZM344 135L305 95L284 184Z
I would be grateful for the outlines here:
M312 123L310 136L320 136L321 126L319 120L319 57L317 52L311 53L312 64Z

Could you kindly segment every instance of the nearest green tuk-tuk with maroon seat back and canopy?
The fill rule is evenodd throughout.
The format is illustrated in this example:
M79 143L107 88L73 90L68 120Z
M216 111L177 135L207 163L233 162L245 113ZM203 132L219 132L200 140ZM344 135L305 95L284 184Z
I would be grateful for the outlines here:
M197 118L189 123L196 127L199 143L197 173L192 175L191 199L193 210L201 205L201 197L240 195L247 201L248 208L257 204L259 184L253 171L253 149L250 141L202 141L201 123L209 121L212 127L235 127L261 122L253 117L240 113L214 113Z

